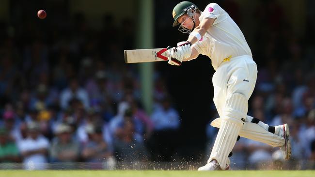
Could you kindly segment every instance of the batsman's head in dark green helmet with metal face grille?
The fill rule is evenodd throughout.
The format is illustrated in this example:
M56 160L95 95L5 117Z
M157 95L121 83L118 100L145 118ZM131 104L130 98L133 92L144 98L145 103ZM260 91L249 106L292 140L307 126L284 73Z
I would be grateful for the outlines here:
M195 28L196 13L200 12L198 7L189 1L179 2L173 9L173 27L180 25L178 30L190 33Z

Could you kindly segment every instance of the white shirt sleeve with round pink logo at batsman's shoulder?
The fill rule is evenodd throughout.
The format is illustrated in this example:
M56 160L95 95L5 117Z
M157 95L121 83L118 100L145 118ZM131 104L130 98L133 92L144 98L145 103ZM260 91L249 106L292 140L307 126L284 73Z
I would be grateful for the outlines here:
M227 13L217 4L210 3L203 12L204 18L214 18L213 26L227 19Z

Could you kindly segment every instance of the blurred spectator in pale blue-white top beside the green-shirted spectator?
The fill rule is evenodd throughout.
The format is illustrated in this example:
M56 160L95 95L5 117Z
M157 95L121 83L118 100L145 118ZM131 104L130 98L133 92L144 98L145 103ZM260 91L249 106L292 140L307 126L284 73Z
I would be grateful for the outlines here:
M49 142L47 138L40 134L37 122L30 122L28 124L28 137L20 140L18 145L25 169L46 169Z

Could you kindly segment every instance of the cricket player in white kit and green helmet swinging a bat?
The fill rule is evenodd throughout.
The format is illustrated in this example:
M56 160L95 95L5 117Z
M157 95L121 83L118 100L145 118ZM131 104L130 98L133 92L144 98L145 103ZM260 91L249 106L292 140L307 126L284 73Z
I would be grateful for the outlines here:
M168 63L179 66L182 61L208 56L216 70L212 82L213 101L220 118L211 125L219 132L204 170L226 170L228 159L239 135L280 147L284 159L289 159L291 146L287 124L269 126L257 118L247 116L248 100L256 83L257 66L242 31L233 19L216 3L210 3L202 12L189 2L178 3L173 9L173 27L188 33L187 41L169 49Z

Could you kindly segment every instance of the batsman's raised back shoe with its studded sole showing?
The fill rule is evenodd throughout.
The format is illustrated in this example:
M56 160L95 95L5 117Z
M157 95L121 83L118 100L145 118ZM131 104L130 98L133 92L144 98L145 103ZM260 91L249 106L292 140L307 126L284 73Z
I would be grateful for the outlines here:
M280 130L279 130L278 135L284 137L284 145L279 148L281 149L282 154L284 155L284 159L288 160L291 156L291 142L289 139L289 136L290 136L289 126L287 124L280 125Z

